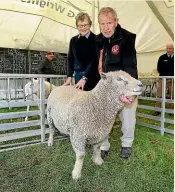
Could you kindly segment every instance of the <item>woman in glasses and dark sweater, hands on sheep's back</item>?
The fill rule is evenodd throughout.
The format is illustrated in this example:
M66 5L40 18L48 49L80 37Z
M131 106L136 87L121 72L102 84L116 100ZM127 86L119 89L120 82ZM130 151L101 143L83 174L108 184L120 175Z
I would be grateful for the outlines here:
M75 75L75 88L92 90L98 83L98 58L95 46L95 34L90 31L92 21L87 13L76 16L79 34L72 37L69 44L67 80L64 85L72 84Z

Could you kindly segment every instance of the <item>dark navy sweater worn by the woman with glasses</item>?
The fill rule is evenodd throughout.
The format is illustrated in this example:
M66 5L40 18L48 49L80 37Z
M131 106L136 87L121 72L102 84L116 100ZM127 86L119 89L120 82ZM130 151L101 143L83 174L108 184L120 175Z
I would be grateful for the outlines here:
M87 77L86 91L93 89L100 79L95 40L95 34L90 32L88 38L80 35L72 37L69 44L67 76L80 74Z

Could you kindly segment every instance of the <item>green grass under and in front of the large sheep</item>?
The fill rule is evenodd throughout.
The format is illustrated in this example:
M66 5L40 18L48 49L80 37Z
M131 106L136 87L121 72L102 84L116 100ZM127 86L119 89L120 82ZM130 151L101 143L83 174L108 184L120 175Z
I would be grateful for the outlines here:
M110 155L101 166L91 160L87 148L82 178L71 171L75 154L69 140L0 153L2 192L173 192L173 141L166 135L136 127L133 153L123 160L120 128L111 133Z

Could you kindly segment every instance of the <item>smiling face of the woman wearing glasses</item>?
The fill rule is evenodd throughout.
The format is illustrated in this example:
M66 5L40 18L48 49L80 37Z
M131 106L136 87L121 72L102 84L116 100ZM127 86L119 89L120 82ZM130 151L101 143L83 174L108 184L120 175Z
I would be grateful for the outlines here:
M78 21L77 23L77 29L82 36L87 35L90 32L90 28L91 26L87 18L85 18L84 21Z

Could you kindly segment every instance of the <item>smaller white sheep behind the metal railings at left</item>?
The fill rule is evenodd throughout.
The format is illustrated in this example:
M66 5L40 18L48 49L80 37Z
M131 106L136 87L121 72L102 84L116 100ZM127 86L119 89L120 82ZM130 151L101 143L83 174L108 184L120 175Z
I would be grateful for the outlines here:
M45 98L47 99L49 97L50 92L56 87L53 84L50 84L49 82L45 81ZM32 81L29 81L25 87L25 98L26 100L39 100L40 98L40 81L39 79L32 79ZM30 109L30 105L27 106L27 112ZM25 121L28 120L28 116L25 118Z

